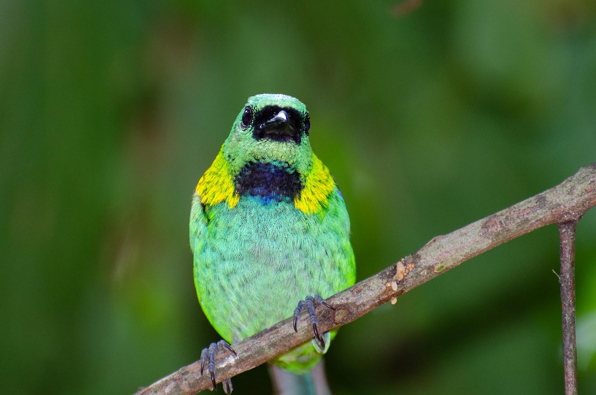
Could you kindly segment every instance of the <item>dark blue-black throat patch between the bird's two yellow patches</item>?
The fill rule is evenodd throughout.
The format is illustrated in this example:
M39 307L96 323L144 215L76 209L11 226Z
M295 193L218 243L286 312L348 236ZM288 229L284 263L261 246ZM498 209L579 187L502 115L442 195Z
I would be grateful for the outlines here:
M291 201L300 194L298 172L273 163L249 162L234 178L240 195L258 196L263 203Z

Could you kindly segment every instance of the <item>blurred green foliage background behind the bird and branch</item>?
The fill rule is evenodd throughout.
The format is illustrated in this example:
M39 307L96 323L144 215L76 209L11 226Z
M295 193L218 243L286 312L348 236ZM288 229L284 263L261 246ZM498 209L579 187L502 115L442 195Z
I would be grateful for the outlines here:
M129 394L219 339L190 198L261 92L308 106L364 279L596 161L596 5L0 2L3 393ZM550 226L414 289L342 329L331 387L562 393L553 270ZM576 279L579 390L596 393L596 210ZM271 391L263 366L234 384Z

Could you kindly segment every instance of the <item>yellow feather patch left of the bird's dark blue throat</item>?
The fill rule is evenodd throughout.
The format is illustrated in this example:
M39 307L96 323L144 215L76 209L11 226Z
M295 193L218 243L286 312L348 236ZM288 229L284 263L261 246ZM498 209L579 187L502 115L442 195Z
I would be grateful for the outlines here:
M201 197L201 203L214 206L225 200L229 208L238 204L240 195L235 193L234 183L229 174L229 163L224 159L224 149L215 157L212 165L198 180L195 192Z

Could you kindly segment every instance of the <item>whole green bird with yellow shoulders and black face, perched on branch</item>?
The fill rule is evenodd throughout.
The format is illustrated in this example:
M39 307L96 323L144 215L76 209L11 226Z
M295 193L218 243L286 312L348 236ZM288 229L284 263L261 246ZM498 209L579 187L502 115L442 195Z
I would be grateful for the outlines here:
M193 193L190 246L205 316L221 335L201 352L216 388L215 356L303 310L312 340L269 361L313 393L313 367L337 332L318 332L315 308L355 283L346 203L313 153L305 105L284 94L249 97ZM275 373L277 372L277 373ZM287 373L286 373L287 372ZM229 379L222 381L231 393ZM310 392L309 392L310 391Z

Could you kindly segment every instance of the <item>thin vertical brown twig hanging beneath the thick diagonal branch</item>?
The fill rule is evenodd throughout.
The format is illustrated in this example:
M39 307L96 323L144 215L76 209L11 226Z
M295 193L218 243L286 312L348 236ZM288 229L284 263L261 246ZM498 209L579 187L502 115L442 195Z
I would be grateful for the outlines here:
M578 350L575 345L575 230L577 221L559 224L561 239L561 306L565 394L578 393Z

